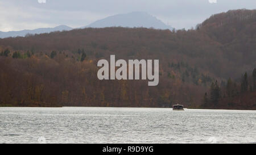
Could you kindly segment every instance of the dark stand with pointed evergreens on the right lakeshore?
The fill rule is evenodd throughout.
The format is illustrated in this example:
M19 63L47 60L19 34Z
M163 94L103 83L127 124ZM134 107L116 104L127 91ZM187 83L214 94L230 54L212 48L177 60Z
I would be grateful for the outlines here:
M249 74L243 74L239 81L231 78L227 82L212 82L209 94L204 94L203 108L255 109L256 68Z

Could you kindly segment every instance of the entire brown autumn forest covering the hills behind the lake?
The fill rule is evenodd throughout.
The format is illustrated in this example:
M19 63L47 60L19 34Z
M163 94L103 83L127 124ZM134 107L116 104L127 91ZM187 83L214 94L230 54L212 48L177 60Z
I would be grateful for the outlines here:
M158 59L159 85L97 78L97 61ZM191 30L84 28L0 39L0 106L256 110L256 10Z

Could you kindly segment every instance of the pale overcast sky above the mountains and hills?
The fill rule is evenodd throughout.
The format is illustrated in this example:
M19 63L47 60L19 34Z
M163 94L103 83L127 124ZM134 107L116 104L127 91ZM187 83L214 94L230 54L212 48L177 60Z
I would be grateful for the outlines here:
M256 9L256 0L0 0L0 31L76 28L132 11L148 12L176 29L191 28L233 9Z

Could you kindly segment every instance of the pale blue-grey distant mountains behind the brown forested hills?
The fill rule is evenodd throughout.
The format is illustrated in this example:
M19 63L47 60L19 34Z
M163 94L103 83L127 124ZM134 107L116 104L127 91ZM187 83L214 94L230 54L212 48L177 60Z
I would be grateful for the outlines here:
M147 12L130 12L128 14L117 14L109 16L104 19L97 20L89 24L88 26L81 27L93 27L93 28L103 28L103 27L146 27L146 28L155 28L155 29L170 29L173 28L164 24L161 20L155 18L154 16L148 14ZM0 38L5 37L16 37L16 36L26 36L30 34L40 34L40 33L49 33L54 31L69 31L72 30L72 27L65 25L53 27L53 28L37 28L35 30L22 30L22 31L9 31L2 32L0 31Z

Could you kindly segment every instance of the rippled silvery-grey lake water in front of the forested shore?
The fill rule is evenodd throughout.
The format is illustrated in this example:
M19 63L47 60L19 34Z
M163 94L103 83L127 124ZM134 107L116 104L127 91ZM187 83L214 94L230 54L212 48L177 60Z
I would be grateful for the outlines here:
M256 111L1 107L0 143L256 143Z

